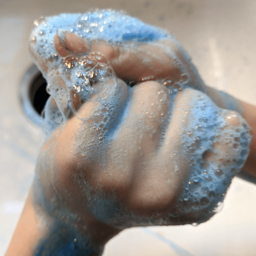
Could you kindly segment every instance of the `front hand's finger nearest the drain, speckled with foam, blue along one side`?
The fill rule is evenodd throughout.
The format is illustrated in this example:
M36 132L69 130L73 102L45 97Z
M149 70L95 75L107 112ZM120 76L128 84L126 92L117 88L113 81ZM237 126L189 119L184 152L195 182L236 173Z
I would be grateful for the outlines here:
M68 144L74 151L82 147L83 152L79 152L82 155L92 154L86 150L87 147L107 144L111 133L118 127L128 99L128 86L120 79L98 82L91 89L95 93L67 120L57 143L60 147L67 147Z

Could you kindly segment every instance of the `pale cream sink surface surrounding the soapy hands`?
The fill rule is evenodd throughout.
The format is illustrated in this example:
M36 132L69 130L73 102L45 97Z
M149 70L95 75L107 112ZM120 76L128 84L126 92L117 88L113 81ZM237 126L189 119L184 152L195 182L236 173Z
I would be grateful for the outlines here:
M42 103L35 106L33 99L35 88L44 82L28 51L33 20L91 7L95 6L87 0L1 1L0 256L18 222L43 143ZM112 0L106 4L99 0L97 7L123 9L169 30L188 50L208 85L256 104L254 1ZM31 81L34 91L22 87ZM128 229L108 242L103 256L256 255L255 202L255 184L235 177L222 210L210 221L198 226Z

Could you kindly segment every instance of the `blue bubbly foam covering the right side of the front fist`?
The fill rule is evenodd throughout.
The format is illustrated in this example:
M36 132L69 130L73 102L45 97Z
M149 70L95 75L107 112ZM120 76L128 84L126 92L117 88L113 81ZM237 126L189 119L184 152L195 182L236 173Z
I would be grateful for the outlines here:
M231 179L249 154L250 128L239 114L219 109L199 94L193 108L200 109L183 129L184 153L190 163L177 207L183 213L214 211L223 201ZM234 146L235 145L235 146Z

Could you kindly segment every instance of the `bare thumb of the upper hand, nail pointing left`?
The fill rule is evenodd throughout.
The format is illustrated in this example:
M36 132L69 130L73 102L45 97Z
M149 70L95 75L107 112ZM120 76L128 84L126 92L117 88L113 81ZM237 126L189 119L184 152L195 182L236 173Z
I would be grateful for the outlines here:
M54 37L56 50L63 57L72 52L86 53L90 49L86 41L72 33L65 32L64 37L61 39L58 33ZM188 74L185 74L184 69L186 66L197 85L198 78L194 75L195 71L191 69L191 65L187 64L184 54L180 53L182 49L179 49L176 44L172 40L162 40L155 44L117 46L100 40L91 42L90 53L99 52L105 55L117 76L124 80L141 82L147 77L154 76L157 79L169 78L166 85L172 86L172 82L187 81ZM182 65L185 66L182 67Z

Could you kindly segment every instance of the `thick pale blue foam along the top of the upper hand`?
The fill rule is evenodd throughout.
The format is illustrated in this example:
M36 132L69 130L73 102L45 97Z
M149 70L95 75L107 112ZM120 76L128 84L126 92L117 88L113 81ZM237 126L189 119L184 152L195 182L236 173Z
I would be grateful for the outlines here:
M37 52L48 59L54 57L54 35L70 31L85 40L105 40L122 44L126 41L151 42L161 38L173 38L167 31L147 25L124 12L114 10L91 10L85 14L61 14L34 21L35 34L31 37ZM35 39L35 37L37 39Z

